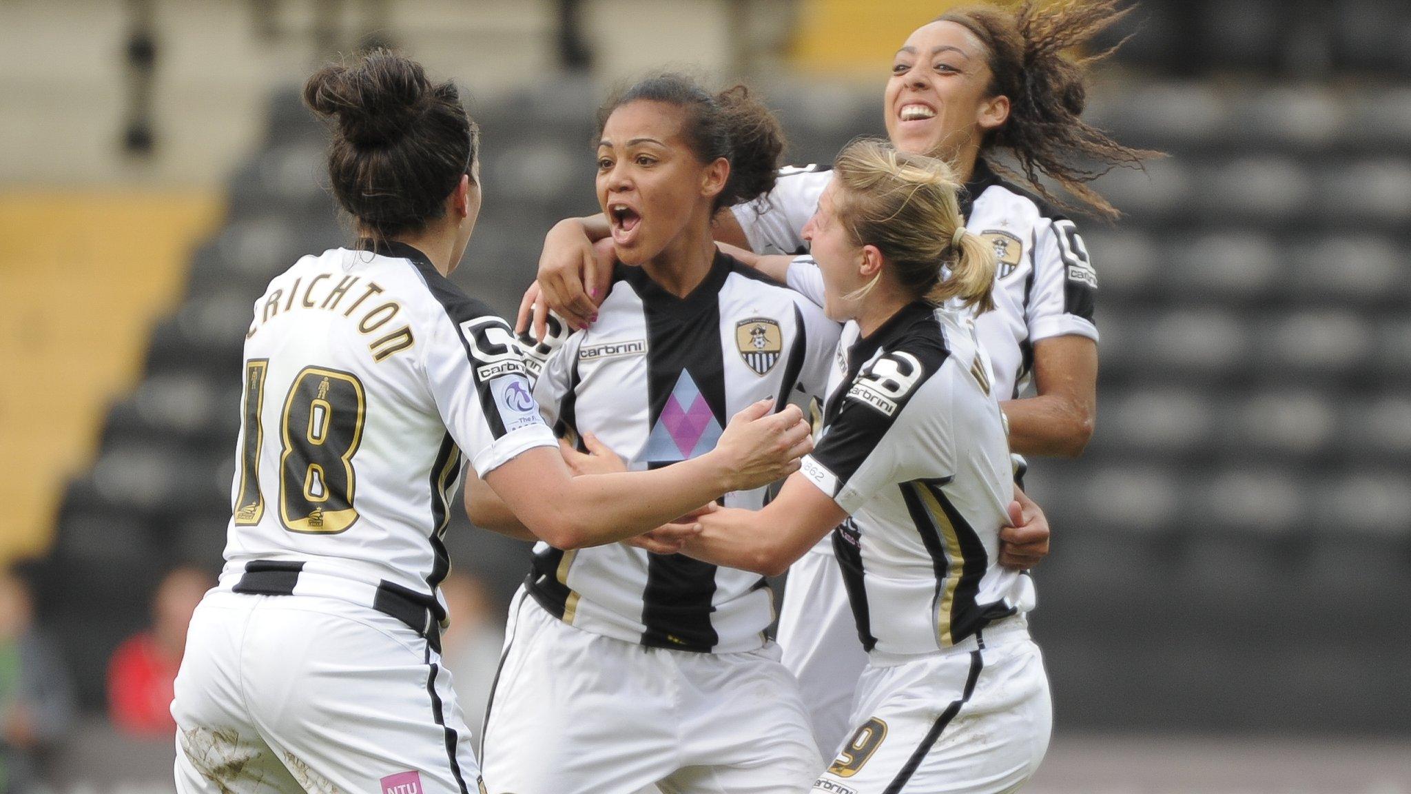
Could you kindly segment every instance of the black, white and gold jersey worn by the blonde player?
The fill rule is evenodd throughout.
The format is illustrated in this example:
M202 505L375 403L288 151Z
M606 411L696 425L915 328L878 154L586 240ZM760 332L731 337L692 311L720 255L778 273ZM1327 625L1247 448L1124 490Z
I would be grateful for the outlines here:
M916 302L841 350L801 473L851 516L832 544L864 647L930 653L1031 609L998 564L1013 479L969 319Z

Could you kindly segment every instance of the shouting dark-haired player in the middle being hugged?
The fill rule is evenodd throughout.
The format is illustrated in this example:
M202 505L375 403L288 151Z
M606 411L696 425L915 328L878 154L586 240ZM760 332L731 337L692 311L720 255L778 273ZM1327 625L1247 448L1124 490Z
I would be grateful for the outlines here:
M593 328L531 349L535 396L566 437L670 470L707 454L731 411L823 394L838 325L711 239L717 212L773 186L782 150L742 86L711 95L662 75L605 106L597 195L619 264ZM509 519L481 490L471 520ZM763 502L765 489L724 499ZM491 694L487 790L806 791L823 759L765 636L773 617L758 574L628 544L539 544Z

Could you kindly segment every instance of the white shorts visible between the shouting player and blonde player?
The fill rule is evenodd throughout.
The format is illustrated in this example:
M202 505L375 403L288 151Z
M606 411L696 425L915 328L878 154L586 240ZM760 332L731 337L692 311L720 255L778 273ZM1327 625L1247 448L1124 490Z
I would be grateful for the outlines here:
M852 695L868 665L832 554L809 550L789 567L779 647L785 667L799 680L813 737L831 756L851 733Z

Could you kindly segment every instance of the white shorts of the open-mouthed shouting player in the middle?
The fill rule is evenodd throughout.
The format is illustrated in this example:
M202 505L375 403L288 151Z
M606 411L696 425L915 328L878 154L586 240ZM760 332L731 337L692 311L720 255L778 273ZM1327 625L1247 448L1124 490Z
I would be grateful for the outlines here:
M490 794L803 793L824 762L777 646L710 654L576 629L525 592L481 743Z

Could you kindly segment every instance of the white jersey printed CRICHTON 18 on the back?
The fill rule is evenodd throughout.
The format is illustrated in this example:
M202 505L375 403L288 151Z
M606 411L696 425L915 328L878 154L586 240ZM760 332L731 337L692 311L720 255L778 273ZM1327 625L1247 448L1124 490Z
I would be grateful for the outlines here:
M222 586L281 561L435 603L463 452L484 476L556 444L509 326L425 254L306 256L270 283L246 336Z

